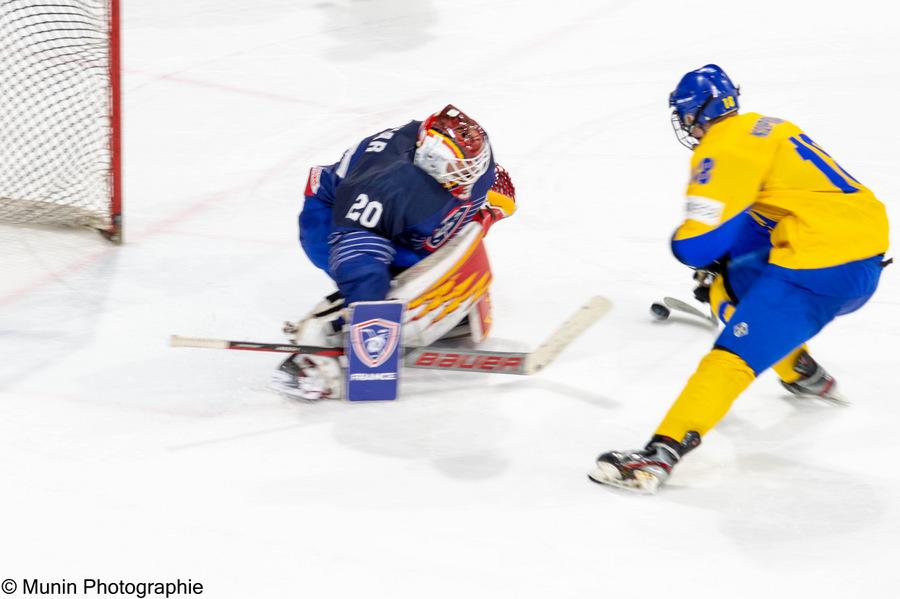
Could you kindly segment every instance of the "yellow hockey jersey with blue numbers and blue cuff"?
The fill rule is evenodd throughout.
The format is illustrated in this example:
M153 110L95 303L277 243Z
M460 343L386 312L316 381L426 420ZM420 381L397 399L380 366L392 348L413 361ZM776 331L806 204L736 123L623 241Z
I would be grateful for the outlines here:
M694 150L676 256L700 267L727 253L745 211L770 231L769 262L786 268L826 268L888 248L875 195L799 127L752 112L715 123Z

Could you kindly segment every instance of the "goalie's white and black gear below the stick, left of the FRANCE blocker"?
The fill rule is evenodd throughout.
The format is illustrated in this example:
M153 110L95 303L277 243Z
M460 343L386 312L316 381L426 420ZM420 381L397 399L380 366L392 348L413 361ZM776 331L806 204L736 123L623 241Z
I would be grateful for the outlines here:
M337 357L292 354L272 373L271 387L291 399L341 399L343 371Z

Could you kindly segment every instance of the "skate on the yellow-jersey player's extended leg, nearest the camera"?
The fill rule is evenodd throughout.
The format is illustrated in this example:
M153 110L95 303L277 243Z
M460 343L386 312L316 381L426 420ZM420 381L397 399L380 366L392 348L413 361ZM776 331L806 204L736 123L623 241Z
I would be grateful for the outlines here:
M654 435L644 449L604 453L588 477L603 485L652 495L669 478L681 457L698 445L700 435L695 431L689 431L681 443Z

